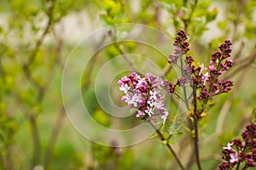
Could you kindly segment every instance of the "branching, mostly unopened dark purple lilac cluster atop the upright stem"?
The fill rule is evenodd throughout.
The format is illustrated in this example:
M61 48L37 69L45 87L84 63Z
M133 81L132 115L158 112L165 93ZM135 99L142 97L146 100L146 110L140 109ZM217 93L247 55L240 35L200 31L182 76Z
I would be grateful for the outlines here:
M219 51L212 54L210 64L205 67L203 64L200 66L193 65L194 59L192 56L186 56L183 60L184 54L189 52L188 36L185 31L180 30L177 33L175 42L173 43L175 51L173 55L169 56L168 62L177 65L182 71L176 83L169 83L170 93L175 93L175 88L186 88L190 85L191 88L199 89L200 93L197 99L207 101L213 95L228 93L233 86L233 82L225 80L221 82L219 76L223 71L228 71L232 67L232 59L229 59L232 52L232 43L226 40L219 45ZM179 61L179 62L178 62Z

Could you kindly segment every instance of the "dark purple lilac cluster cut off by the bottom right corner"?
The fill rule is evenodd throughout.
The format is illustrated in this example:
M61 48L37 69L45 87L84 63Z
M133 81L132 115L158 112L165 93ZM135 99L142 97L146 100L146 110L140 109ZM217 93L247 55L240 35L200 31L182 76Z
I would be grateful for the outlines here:
M230 170L233 167L242 169L256 167L256 124L247 125L246 130L241 133L241 139L235 139L226 147L223 147L223 163L219 165L220 170ZM238 167L237 167L238 166Z

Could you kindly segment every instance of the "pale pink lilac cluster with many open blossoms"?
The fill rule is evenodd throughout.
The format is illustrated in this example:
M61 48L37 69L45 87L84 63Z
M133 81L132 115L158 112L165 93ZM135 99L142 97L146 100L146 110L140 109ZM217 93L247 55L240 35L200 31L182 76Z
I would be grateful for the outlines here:
M125 95L121 98L128 107L137 109L137 117L148 120L148 117L157 122L156 116L166 122L168 111L163 103L164 97L160 94L160 89L166 87L166 81L160 77L147 74L141 77L133 72L128 77L122 77L118 84L119 89Z

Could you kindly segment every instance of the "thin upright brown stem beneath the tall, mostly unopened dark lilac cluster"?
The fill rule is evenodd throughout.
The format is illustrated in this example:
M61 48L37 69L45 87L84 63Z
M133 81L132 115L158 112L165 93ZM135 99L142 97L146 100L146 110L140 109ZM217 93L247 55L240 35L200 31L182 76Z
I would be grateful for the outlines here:
M197 104L196 104L196 88L193 87L193 103L194 103L194 129L195 129L195 161L199 170L201 170L200 154L199 154L199 133L198 133L198 117L197 117Z

